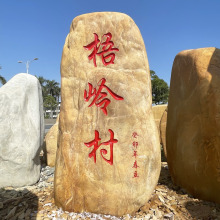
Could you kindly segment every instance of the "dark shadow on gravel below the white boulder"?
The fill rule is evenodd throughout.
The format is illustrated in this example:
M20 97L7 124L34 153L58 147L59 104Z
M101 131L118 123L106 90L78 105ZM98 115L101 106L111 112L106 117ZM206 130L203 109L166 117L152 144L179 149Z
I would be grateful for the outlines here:
M0 189L1 220L36 220L37 211L38 197L29 190Z

